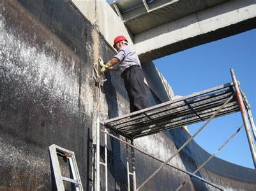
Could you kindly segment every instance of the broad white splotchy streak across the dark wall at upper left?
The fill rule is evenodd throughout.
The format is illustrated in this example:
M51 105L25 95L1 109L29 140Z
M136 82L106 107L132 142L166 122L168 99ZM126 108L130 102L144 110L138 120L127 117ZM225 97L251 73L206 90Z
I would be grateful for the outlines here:
M38 50L13 33L6 31L4 17L0 14L0 66L8 71L4 78L20 80L32 92L38 87L45 88L50 97L57 96L77 104L79 79L74 71L75 60L65 61L63 56L56 59L46 49ZM45 48L51 46L52 42L46 42ZM63 66L72 67L66 69Z

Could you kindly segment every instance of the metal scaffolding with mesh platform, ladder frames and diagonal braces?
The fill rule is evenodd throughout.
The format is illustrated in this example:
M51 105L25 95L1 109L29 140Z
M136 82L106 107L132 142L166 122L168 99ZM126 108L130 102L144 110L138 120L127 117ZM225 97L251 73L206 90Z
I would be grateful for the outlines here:
M211 158L216 155L216 152L209 157L209 159L204 162L199 169L197 169L194 173L190 173L188 171L184 171L183 169L179 169L178 167L171 166L169 164L170 160L172 160L183 148L188 145L190 141L195 138L197 134L199 134L204 127L216 117L222 117L223 115L229 115L231 113L235 113L237 111L241 112L241 116L243 118L243 125L241 127L245 127L246 136L248 138L248 143L250 146L250 150L252 153L252 160L254 167L256 168L256 155L255 155L255 124L253 122L252 112L250 104L246 99L246 96L241 89L239 88L239 82L236 80L236 76L234 74L234 70L230 69L230 73L232 76L231 83L225 83L223 85L219 85L217 87L209 88L202 92L196 92L191 95L186 95L184 97L179 97L178 99L174 99L172 101L168 101L166 103L158 104L156 106L152 106L150 108L146 108L144 110L135 111L133 113L129 113L127 115L123 115L121 117L112 118L110 120L105 121L104 129L100 129L100 122L98 121L97 125L97 150L96 150L96 185L95 189L100 190L100 164L105 167L105 190L107 190L107 136L117 139L122 143L126 144L126 153L127 153L127 181L128 188L130 191L130 176L133 177L133 191L140 190L153 176L162 169L163 166L167 165L177 169L183 173L188 174L190 177L197 178L204 183L207 183L219 190L223 190L223 188L218 187L215 183L211 183L210 181L201 178L195 173L199 171ZM247 112L246 112L247 111ZM249 124L249 122L250 124ZM141 138L143 136L149 136L151 134L156 134L158 132L169 131L175 128L183 127L184 125L195 124L197 122L204 122L202 127L199 128L193 136L191 136L172 156L169 157L166 161L157 159L156 157L150 155L149 153L144 152L140 148L137 148L133 145L133 139ZM237 132L240 131L241 127L230 136L225 143L220 146L217 150L220 151L225 144L227 144L230 139L232 139ZM114 134L110 133L110 131L114 131L117 134L123 136L126 140L124 141L121 138L117 138ZM105 162L100 162L100 132L105 134ZM253 138L252 138L253 132ZM130 142L130 143L129 143ZM132 172L130 172L130 159L128 157L128 146L131 147L132 152ZM162 162L162 165L147 178L142 185L137 187L136 183L136 173L135 173L135 157L134 150L138 150L139 152L144 153L145 155L152 157L153 159ZM181 188L183 184L180 185ZM179 190L177 188L177 190Z

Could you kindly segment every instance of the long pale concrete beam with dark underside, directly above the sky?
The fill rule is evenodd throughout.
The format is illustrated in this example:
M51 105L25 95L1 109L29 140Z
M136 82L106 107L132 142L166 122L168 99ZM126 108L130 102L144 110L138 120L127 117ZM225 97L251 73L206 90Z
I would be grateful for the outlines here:
M256 27L256 1L229 1L134 36L142 62Z

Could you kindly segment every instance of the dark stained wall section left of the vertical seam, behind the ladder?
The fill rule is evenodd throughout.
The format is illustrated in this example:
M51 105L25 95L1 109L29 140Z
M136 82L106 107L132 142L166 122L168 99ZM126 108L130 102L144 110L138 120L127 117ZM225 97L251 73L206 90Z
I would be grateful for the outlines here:
M64 1L0 4L0 190L51 190L52 143L76 153L87 185L91 25Z

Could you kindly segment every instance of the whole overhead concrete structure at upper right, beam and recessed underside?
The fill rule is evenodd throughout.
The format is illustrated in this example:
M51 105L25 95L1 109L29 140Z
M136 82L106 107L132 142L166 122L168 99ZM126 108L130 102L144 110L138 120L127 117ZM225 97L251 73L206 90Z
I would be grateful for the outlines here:
M112 8L132 34L142 62L256 27L255 1L125 2Z

